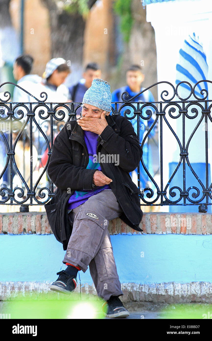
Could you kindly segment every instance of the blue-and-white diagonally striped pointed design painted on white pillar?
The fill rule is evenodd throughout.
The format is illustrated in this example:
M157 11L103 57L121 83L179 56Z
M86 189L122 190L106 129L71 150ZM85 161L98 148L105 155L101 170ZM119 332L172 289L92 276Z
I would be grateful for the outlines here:
M199 42L199 36L196 37L195 33L184 40L182 48L179 50L179 64L176 65L176 84L181 81L189 82L192 87L203 79L208 79L208 64L206 55L203 51L202 43ZM200 91L206 89L208 85L205 82L198 84L195 88L195 95L203 98ZM183 94L182 98L189 96L191 89L190 86L182 83L178 87L179 94Z

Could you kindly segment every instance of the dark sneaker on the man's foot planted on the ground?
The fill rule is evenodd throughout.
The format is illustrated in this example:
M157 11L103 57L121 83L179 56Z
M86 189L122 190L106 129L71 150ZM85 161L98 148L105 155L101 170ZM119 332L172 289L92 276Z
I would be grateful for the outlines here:
M127 317L129 311L123 306L118 296L111 296L107 302L102 305L103 313L106 317Z

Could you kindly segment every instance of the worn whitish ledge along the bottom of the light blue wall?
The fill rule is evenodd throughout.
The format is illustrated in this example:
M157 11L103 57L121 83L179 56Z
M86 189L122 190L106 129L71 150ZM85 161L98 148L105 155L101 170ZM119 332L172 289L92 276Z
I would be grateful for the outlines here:
M50 282L0 282L0 300L12 300L17 293L52 293L49 290ZM136 284L122 283L123 302L153 302L153 303L212 303L212 283L153 283ZM77 285L75 292L80 292ZM81 293L96 295L94 285L82 284ZM63 299L68 296L61 296Z

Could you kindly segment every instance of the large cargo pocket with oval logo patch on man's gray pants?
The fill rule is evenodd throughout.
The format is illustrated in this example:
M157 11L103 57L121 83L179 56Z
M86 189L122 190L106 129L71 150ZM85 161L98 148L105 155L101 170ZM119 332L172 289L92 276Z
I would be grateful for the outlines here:
M104 229L108 228L105 221L106 219L94 210L80 210L71 235L76 249L94 258L101 246Z

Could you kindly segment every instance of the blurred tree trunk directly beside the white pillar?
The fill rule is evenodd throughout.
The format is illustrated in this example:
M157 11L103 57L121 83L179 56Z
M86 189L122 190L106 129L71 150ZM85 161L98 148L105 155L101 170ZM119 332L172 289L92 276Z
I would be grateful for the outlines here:
M157 83L157 53L154 29L146 21L146 9L141 0L131 0L131 14L134 23L130 32L129 42L120 39L119 29L116 29L117 48L119 48L120 66L111 74L110 83L112 89L117 89L126 84L126 70L131 64L142 67L145 79L142 87L147 88ZM117 25L117 16L116 16ZM121 48L120 48L121 47ZM123 52L122 52L122 51ZM150 89L157 99L157 86Z

